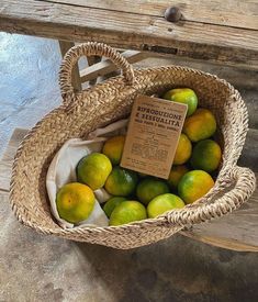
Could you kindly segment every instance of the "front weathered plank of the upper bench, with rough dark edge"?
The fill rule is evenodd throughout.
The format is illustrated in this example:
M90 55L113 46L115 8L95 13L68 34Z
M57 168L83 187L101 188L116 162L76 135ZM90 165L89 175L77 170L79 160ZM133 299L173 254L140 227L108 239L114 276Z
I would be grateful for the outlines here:
M61 3L1 0L0 30L114 47L177 54L258 69L258 31Z

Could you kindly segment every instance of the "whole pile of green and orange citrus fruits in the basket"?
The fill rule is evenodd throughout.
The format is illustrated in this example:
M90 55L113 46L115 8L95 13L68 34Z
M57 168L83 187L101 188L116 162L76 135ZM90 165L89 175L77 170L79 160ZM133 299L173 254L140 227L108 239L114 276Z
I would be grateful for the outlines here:
M220 145L212 138L215 116L198 108L198 97L189 88L169 90L164 99L188 105L169 178L162 180L120 167L125 136L111 137L101 153L89 154L78 163L78 182L67 183L57 192L61 219L70 223L87 220L94 208L93 191L101 188L111 195L103 204L110 225L154 219L210 191L222 157Z

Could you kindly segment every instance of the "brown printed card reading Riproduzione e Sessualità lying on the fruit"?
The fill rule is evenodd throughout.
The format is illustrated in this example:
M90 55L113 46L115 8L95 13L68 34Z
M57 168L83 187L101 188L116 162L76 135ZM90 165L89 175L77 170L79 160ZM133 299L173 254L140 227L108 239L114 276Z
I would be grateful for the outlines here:
M188 107L139 96L133 105L121 166L168 179Z

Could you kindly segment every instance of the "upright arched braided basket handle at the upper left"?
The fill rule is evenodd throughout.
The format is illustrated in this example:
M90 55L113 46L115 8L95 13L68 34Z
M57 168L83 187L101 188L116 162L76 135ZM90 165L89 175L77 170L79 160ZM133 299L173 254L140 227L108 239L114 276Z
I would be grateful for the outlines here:
M122 69L124 81L132 85L134 81L134 71L132 65L114 48L103 43L88 42L71 47L65 55L59 70L59 86L61 97L66 103L67 97L75 98L77 92L71 85L71 71L74 65L82 56L104 56L111 59L117 67Z

